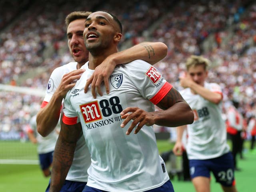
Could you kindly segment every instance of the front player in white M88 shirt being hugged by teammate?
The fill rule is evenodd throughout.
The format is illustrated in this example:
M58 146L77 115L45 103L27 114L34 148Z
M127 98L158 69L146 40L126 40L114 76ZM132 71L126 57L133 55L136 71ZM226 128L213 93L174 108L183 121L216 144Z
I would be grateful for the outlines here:
M80 132L84 133L92 159L84 192L173 191L152 125L192 123L192 110L178 91L150 64L136 60L115 68L108 82L109 94L104 91L101 97L94 98L84 93L84 82L96 67L118 51L122 37L119 24L115 16L104 11L94 12L86 20L84 40L90 51L89 62L64 99L51 192L58 191L64 182ZM154 104L164 111L155 112ZM126 124L128 129L124 128ZM136 133L140 132L128 136L134 127Z

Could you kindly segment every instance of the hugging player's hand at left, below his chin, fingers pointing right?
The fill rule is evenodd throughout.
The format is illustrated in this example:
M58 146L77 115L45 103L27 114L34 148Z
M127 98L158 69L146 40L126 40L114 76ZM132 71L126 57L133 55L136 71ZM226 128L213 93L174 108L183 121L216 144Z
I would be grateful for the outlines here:
M75 86L76 81L80 79L84 71L85 71L84 69L78 69L78 70L71 71L67 74L64 74L60 82L60 85L55 91L56 94L64 98L67 92Z

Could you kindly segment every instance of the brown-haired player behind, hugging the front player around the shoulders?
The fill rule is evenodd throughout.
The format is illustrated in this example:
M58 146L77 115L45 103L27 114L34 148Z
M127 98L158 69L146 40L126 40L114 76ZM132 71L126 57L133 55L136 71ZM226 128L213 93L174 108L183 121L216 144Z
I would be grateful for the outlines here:
M89 14L90 12L72 12L66 17L68 47L76 62L70 62L56 68L50 76L46 96L37 116L38 132L42 136L47 136L55 128L60 116L63 98L68 90L75 85L73 82L79 79L80 74L84 72L80 68L88 61L88 51L84 45L83 31L84 22ZM97 90L102 95L99 88L100 84L102 81L108 81L108 77L117 64L130 62L138 58L154 64L164 58L166 54L167 47L161 42L143 42L127 50L112 54L98 66L86 82L85 88L88 89L88 86L92 83L92 94L96 97ZM109 92L109 85L105 83L105 86ZM87 182L89 166L90 154L85 145L84 137L81 135L62 190L81 191ZM49 190L49 186L46 191Z

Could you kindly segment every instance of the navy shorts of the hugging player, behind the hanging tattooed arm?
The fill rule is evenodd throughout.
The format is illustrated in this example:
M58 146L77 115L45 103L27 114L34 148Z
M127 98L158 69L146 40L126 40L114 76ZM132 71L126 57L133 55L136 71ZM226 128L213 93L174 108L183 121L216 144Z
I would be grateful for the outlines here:
M48 187L45 192L49 192L51 179L49 181ZM86 182L78 182L78 181L69 181L65 180L60 192L82 192L84 187L86 186Z

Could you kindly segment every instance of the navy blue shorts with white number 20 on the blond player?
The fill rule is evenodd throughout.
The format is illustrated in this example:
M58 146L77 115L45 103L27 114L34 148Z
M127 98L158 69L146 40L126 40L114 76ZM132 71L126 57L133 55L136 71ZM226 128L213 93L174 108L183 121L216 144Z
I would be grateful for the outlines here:
M223 186L234 184L234 163L231 152L220 157L207 160L189 160L191 179L197 176L210 178L210 171L214 174L216 182Z

